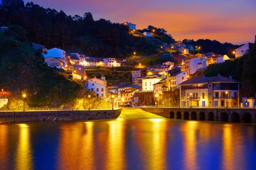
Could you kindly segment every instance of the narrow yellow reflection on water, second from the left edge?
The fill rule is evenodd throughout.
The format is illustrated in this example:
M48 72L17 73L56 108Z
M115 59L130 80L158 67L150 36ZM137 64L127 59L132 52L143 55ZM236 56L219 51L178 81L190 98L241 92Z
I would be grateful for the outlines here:
M30 141L30 130L27 124L18 124L20 133L15 151L15 170L32 170L32 148Z

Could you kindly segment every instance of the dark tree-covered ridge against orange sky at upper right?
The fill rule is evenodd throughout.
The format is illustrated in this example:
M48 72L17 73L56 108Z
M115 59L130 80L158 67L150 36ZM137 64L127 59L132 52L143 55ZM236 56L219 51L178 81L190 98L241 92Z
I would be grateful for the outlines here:
M197 41L194 40L183 40L185 44L190 44L194 46L195 54L196 53L207 53L213 52L215 54L227 54L229 57L235 57L233 51L241 45L233 45L228 42L221 43L217 40L209 40L209 39L199 39ZM200 50L195 48L196 46L200 47Z

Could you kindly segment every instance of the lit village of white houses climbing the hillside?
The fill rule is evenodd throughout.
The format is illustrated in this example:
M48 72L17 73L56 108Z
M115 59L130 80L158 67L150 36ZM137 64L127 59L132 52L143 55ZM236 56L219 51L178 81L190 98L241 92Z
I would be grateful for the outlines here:
M122 23L136 31L136 25ZM145 37L154 38L153 32L144 32ZM67 53L60 48L47 49L44 45L32 44L36 50L42 51L44 62L57 71L72 74L74 79L84 82L84 88L95 97L102 97L115 106L171 105L181 107L228 107L239 105L239 81L230 76L203 77L195 73L206 69L211 64L223 63L227 60L241 57L247 53L251 43L242 45L233 51L233 56L207 52L191 54L190 51L200 49L200 46L186 45L180 41L171 44L163 43L162 51L175 51L168 54L169 61L157 65L134 65L131 70L130 83L108 83L105 75L90 77L86 68L117 68L128 65L127 58L117 57L87 57L80 51ZM134 56L136 52L134 52ZM141 57L146 58L146 57ZM137 60L140 60L138 58ZM130 66L131 67L131 66ZM164 96L164 97L163 97ZM243 105L254 107L254 99L244 99ZM247 102L247 104L246 104ZM250 104L249 104L250 103Z

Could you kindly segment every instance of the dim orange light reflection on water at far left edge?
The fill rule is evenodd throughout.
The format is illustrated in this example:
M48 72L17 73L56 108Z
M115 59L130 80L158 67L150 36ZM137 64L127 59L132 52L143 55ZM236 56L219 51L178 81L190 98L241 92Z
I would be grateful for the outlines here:
M7 125L0 125L0 167L7 169Z

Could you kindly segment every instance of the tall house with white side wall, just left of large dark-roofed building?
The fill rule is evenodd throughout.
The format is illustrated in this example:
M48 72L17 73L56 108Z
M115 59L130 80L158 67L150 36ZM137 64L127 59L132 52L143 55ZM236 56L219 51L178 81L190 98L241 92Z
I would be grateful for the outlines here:
M173 74L169 78L169 91L174 91L175 89L180 88L180 83L185 82L188 79L187 75L186 71Z

